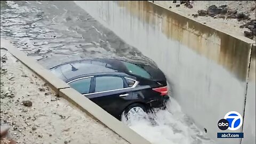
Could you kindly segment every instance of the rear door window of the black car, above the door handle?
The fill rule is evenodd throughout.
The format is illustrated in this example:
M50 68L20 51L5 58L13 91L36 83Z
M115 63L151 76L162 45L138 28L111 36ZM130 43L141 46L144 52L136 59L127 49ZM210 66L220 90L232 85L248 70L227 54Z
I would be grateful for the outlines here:
M102 76L95 78L95 92L123 89L124 82L122 77Z

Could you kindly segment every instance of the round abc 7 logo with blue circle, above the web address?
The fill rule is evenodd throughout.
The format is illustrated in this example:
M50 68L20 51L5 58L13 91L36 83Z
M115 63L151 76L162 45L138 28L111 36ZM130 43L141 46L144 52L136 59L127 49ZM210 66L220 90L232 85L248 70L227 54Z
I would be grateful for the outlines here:
M243 124L242 116L236 111L230 111L225 115L223 119L218 122L218 127L220 130L238 130Z

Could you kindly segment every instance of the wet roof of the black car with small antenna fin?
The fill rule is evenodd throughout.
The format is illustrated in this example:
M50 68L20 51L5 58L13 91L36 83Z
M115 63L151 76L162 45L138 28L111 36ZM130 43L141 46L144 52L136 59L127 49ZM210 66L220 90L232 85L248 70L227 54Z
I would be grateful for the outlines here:
M115 63L115 65L118 65L119 70L116 68L111 68L108 63ZM124 68L125 66L123 65L122 61L115 59L83 59L62 63L61 65L51 68L51 70L58 71L58 75L61 75L60 77L62 79L65 77L63 80L66 81L67 79L73 79L74 77L92 76L99 74L129 76L122 72L125 71L122 70Z

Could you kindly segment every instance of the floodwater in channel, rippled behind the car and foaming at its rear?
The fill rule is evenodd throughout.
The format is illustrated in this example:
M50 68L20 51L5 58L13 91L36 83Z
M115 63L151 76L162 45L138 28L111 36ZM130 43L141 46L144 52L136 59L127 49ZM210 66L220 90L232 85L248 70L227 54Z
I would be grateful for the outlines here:
M10 39L46 68L82 58L154 64L71 1L1 1L1 37ZM212 143L173 99L167 110L148 117L123 122L153 143Z

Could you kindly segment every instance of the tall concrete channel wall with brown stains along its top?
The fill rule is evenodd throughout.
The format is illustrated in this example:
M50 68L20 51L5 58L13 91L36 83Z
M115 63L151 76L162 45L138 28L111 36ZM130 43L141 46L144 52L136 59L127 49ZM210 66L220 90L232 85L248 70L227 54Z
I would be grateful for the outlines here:
M241 142L217 139L221 132L217 123L228 111L244 113L251 39L229 36L147 1L75 3L154 60L182 110L198 127L206 128L210 138L217 143ZM255 101L251 104L246 113L255 119L251 110ZM252 133L255 135L255 129Z

